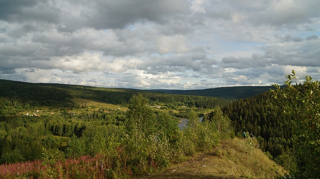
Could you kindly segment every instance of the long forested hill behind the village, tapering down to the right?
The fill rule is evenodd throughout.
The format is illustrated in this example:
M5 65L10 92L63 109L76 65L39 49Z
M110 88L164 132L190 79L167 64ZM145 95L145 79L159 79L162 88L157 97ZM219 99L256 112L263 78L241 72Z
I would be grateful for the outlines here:
M134 94L142 94L151 104L165 103L171 106L214 108L225 106L229 100L214 97L165 94L147 90L102 88L81 85L26 83L0 79L0 97L9 98L22 105L62 106L76 105L72 99L88 99L104 103L125 105Z

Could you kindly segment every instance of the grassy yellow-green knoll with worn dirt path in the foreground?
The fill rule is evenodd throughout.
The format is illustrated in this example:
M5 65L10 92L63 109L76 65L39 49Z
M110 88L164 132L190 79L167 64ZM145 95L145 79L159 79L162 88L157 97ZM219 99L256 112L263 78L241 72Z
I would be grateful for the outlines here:
M197 154L158 174L139 179L270 179L284 175L282 167L246 142L238 138L223 140L211 153Z

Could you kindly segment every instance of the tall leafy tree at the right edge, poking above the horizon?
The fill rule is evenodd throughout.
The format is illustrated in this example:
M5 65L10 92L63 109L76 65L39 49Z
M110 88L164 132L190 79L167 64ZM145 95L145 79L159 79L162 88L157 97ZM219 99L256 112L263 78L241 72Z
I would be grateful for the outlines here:
M296 117L294 148L297 154L297 176L320 176L320 82L305 76L302 84L296 83L295 72L286 76L285 88L278 85L271 90L275 98L286 100L284 112Z

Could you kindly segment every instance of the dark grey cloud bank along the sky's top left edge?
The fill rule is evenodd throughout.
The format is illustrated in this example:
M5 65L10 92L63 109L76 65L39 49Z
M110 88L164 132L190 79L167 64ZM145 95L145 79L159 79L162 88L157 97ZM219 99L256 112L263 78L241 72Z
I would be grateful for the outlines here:
M164 23L172 15L188 13L184 0L9 0L2 1L0 19L58 24L64 32L78 28L119 29L136 22Z

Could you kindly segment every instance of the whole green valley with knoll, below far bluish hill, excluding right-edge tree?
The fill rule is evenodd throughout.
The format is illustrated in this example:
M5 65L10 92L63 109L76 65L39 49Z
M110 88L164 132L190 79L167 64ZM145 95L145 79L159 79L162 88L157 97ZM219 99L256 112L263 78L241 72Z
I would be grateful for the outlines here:
M285 99L272 95L283 87L235 100L0 82L0 178L297 174L293 137L302 118L283 113ZM254 138L242 139L243 132ZM22 169L25 165L30 168Z

